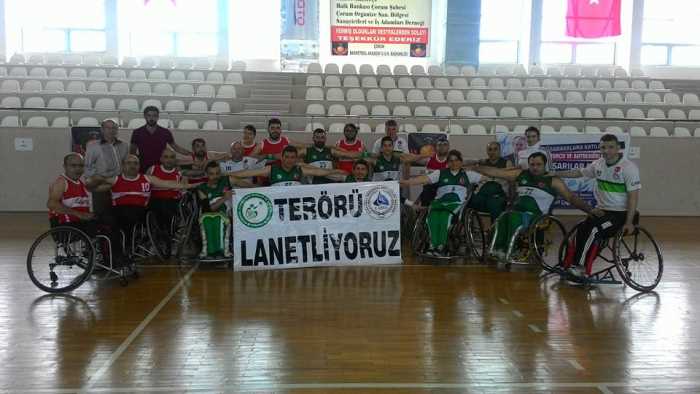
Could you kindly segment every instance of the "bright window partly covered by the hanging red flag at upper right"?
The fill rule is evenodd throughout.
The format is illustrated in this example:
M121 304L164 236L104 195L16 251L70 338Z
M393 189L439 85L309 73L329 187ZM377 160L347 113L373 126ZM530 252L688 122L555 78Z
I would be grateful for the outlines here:
M567 3L542 1L540 62L614 64L618 37L581 39L566 35Z

